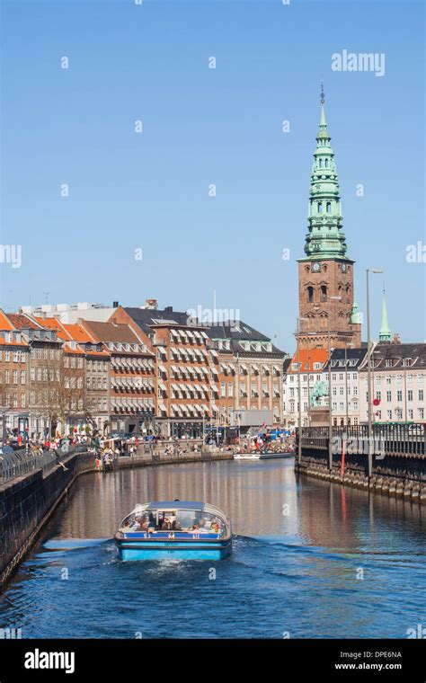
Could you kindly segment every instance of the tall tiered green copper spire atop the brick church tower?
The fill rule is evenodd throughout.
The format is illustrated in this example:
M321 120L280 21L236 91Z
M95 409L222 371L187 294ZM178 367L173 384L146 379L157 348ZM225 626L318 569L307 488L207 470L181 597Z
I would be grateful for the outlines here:
M325 121L324 90L321 86L321 119L312 167L305 244L305 253L309 260L346 256L339 180L330 145L331 139Z

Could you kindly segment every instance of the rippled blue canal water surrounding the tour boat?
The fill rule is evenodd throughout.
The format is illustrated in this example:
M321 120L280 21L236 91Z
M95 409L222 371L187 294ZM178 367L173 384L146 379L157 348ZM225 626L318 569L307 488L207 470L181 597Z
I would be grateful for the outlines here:
M203 500L233 521L220 563L122 563L137 502ZM84 475L0 597L22 638L406 638L426 625L424 510L315 479L292 460Z

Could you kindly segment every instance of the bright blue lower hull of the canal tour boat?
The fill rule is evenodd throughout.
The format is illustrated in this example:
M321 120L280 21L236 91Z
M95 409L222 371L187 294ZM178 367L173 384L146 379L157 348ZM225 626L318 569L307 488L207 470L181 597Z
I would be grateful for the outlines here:
M151 540L115 537L120 560L225 560L232 553L232 539Z

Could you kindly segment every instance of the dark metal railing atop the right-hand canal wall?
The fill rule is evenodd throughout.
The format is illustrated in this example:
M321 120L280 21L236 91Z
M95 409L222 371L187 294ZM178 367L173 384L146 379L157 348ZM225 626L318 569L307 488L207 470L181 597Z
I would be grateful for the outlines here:
M371 438L381 452L388 455L409 455L426 457L426 425L413 424L375 424L372 425ZM298 439L298 435L297 435ZM349 440L359 444L359 452L366 453L368 443L368 425L350 425L348 427L333 427L332 439ZM328 427L302 428L302 448L328 448Z

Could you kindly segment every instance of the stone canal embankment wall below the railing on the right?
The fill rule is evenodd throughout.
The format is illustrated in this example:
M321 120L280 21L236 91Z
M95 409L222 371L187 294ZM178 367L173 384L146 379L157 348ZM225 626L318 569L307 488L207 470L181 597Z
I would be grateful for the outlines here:
M365 453L333 453L330 468L326 447L302 447L300 462L297 454L295 471L300 475L343 486L351 486L407 501L426 504L426 457L415 453L392 453L373 457L371 476L368 476L368 457Z

